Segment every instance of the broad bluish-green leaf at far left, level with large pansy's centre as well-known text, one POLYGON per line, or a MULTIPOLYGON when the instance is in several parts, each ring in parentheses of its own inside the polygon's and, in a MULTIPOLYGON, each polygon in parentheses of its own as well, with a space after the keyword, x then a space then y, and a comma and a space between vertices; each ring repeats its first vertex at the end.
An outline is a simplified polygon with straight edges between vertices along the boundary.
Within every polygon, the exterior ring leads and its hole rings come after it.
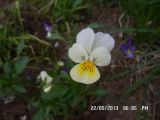
POLYGON ((27 66, 28 62, 29 62, 28 57, 26 56, 18 57, 15 63, 16 73, 18 74, 22 73, 25 67, 27 66))

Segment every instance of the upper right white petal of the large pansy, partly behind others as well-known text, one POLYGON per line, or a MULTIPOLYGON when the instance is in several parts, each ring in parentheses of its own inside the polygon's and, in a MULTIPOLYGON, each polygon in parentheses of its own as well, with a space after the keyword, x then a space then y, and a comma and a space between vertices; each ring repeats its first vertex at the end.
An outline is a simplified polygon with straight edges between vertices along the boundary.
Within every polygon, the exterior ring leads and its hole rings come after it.
POLYGON ((114 44, 115 40, 109 34, 98 32, 95 34, 92 50, 95 50, 98 47, 106 47, 110 52, 114 48, 114 44))

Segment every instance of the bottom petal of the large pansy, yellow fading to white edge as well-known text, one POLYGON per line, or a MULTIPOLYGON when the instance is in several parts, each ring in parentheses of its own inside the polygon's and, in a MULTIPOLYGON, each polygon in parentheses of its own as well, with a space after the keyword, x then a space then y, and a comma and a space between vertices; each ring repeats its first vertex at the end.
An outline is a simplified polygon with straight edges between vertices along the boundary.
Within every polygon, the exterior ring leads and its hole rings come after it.
POLYGON ((75 65, 71 71, 71 78, 79 83, 92 84, 100 78, 100 73, 96 66, 94 66, 93 71, 86 71, 83 69, 83 63, 75 65))

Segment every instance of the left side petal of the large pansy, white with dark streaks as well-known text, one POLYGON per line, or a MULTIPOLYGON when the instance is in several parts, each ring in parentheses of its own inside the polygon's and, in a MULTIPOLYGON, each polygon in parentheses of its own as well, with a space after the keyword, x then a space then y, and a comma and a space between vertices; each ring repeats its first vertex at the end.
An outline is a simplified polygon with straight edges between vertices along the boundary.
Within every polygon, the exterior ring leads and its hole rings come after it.
POLYGON ((82 47, 82 45, 75 43, 69 48, 68 56, 75 63, 80 63, 86 59, 88 59, 88 54, 86 50, 82 47))

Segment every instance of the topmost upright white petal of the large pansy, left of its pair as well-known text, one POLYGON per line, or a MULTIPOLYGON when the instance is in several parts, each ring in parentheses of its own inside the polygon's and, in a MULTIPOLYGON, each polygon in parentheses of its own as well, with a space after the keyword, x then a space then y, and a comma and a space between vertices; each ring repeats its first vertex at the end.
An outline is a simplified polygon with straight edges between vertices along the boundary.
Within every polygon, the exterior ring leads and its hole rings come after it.
POLYGON ((94 31, 91 28, 81 30, 76 38, 76 42, 81 44, 90 54, 94 42, 94 31))

